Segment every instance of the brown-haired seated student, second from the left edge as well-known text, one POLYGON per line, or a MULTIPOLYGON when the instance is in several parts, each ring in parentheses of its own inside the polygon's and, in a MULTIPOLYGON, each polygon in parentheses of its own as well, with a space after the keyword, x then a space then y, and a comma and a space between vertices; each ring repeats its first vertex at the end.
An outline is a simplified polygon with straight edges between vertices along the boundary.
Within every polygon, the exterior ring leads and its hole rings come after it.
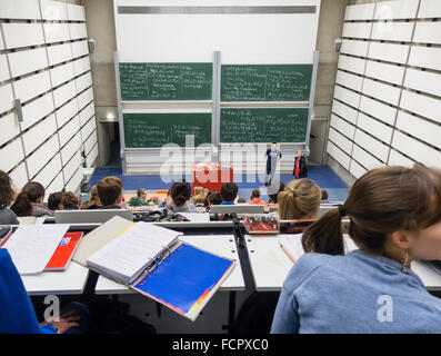
POLYGON ((21 192, 17 196, 16 201, 11 206, 11 210, 13 210, 17 216, 53 217, 53 210, 43 206, 44 192, 44 187, 39 182, 27 182, 21 189, 21 192))

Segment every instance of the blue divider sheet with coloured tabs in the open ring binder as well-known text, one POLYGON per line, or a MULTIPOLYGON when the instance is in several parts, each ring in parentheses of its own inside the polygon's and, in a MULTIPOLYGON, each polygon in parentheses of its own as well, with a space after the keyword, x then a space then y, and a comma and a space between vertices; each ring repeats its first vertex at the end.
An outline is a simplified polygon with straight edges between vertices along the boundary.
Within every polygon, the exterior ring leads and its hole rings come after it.
POLYGON ((132 287, 194 319, 233 265, 231 259, 181 244, 132 287))

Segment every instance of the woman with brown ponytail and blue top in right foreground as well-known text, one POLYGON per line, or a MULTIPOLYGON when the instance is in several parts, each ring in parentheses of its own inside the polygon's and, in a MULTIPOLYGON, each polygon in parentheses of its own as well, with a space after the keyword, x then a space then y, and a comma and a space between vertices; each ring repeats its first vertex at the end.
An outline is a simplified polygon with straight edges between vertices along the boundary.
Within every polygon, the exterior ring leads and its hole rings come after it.
POLYGON ((412 260, 441 259, 441 172, 385 167, 303 233, 271 333, 441 333, 441 299, 412 260), (341 219, 358 250, 344 256, 341 219))

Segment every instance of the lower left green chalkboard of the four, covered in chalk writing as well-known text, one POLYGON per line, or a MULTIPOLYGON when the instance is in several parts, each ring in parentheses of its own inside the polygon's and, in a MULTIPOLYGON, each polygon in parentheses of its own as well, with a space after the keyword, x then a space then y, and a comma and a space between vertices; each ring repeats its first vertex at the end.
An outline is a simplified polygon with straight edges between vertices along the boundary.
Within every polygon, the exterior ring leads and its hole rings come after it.
POLYGON ((194 146, 211 144, 211 113, 124 113, 127 148, 186 146, 193 135, 194 146))

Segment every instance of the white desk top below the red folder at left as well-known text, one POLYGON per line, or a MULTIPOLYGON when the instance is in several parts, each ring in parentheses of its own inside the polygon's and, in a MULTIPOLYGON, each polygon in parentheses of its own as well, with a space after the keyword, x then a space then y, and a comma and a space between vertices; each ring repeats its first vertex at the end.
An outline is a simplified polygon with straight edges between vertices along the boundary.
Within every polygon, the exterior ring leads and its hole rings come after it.
POLYGON ((31 296, 77 295, 84 290, 88 276, 89 269, 72 260, 66 270, 43 271, 38 275, 21 276, 21 279, 31 296))

